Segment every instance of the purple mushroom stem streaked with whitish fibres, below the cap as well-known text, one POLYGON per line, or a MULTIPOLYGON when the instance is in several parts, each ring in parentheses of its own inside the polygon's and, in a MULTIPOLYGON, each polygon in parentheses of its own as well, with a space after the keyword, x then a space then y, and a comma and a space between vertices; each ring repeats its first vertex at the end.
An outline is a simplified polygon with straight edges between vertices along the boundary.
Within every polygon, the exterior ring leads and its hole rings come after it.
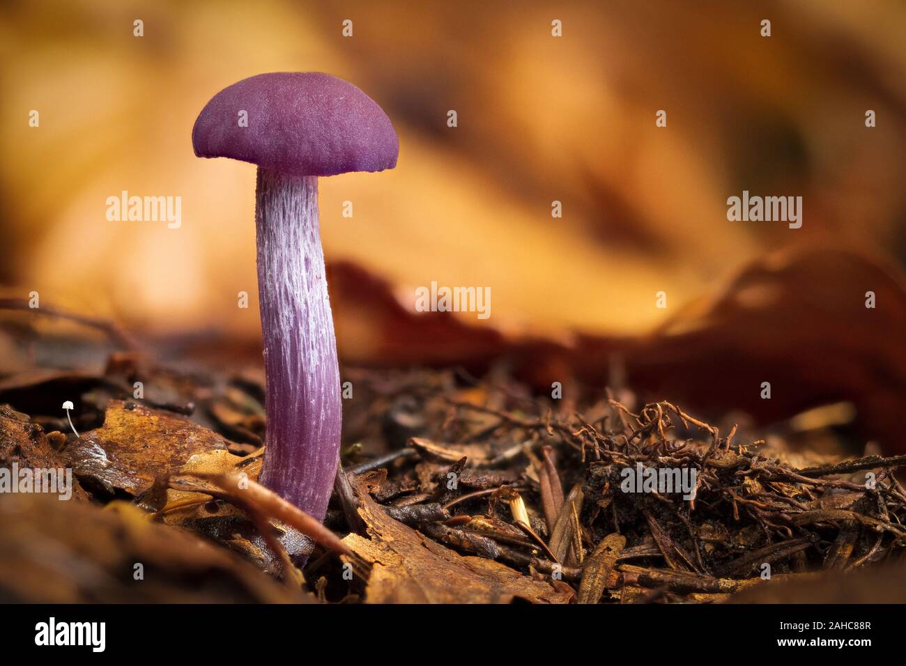
POLYGON ((259 167, 255 228, 267 384, 260 481, 323 521, 339 459, 342 406, 318 179, 259 167))

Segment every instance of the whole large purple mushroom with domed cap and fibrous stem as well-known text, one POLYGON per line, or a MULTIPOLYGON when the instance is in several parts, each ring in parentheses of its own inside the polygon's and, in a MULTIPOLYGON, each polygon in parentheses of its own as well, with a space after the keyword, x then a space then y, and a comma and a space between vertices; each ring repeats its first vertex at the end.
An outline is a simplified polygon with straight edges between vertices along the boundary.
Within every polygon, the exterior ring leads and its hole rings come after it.
POLYGON ((319 521, 340 449, 342 407, 318 230, 318 177, 396 166, 387 114, 352 83, 258 74, 218 92, 192 130, 198 157, 258 166, 258 295, 267 434, 261 482, 319 521))

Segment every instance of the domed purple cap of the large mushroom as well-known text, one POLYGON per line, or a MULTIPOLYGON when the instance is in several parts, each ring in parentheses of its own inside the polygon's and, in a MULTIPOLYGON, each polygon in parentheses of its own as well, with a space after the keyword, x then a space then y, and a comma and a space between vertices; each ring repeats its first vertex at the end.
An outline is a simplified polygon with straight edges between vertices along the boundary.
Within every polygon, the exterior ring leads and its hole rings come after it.
POLYGON ((198 157, 232 158, 294 176, 396 166, 387 114, 352 83, 321 72, 257 74, 207 102, 192 129, 198 157), (239 124, 246 111, 248 126, 239 124))

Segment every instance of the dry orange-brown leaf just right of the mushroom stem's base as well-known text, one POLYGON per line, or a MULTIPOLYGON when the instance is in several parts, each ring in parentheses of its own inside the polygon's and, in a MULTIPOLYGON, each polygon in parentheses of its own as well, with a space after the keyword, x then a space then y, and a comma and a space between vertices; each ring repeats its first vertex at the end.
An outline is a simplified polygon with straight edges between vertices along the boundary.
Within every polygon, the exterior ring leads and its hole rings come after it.
POLYGON ((371 539, 343 541, 371 563, 367 603, 566 603, 563 589, 483 557, 458 555, 387 516, 360 486, 359 512, 371 539))

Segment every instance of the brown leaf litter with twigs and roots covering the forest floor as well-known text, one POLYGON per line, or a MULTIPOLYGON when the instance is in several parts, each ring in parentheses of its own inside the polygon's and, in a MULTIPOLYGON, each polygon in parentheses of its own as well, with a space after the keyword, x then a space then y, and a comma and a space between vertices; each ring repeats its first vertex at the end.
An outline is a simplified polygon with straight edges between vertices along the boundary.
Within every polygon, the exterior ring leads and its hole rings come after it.
MULTIPOLYGON (((234 601, 713 603, 902 559, 906 493, 895 470, 906 457, 803 464, 776 441, 721 435, 668 401, 636 408, 585 391, 566 405, 505 370, 483 381, 344 375, 356 399, 344 405, 343 471, 323 527, 256 484, 263 389, 247 376, 181 375, 119 355, 105 373, 79 375, 81 438, 16 410, 37 402, 30 387, 63 391, 54 382, 72 387, 71 376, 6 378, 17 402, 0 408, 0 466, 71 465, 80 501, 0 497, 14 526, 3 538, 53 524, 60 552, 80 562, 66 569, 72 601, 88 600, 86 584, 101 574, 112 576, 101 600, 131 594, 115 563, 149 544, 124 523, 178 535, 181 545, 154 545, 171 558, 161 566, 200 571, 211 552, 223 555, 224 575, 242 581, 227 594, 234 601), (158 372, 172 390, 153 404, 130 399, 125 380, 153 385, 158 372), (640 464, 694 469, 694 498, 623 492, 623 470, 640 464), (84 525, 97 547, 73 550, 84 525)), ((42 556, 16 543, 0 565, 5 595, 28 594, 10 567, 46 574, 42 556)), ((173 585, 161 599, 192 597, 173 585)))

